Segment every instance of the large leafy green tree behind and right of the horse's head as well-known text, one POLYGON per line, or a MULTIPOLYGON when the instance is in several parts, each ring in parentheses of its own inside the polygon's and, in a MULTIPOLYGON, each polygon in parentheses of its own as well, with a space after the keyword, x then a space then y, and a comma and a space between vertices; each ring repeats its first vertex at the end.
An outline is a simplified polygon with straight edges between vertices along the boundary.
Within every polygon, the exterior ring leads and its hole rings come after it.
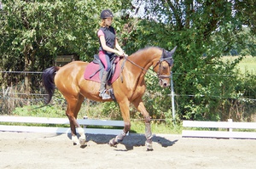
POLYGON ((224 63, 221 57, 235 47, 253 51, 255 41, 248 42, 250 35, 244 33, 245 25, 253 31, 254 18, 247 17, 245 12, 254 12, 253 1, 138 0, 137 4, 142 2, 144 15, 137 19, 137 29, 127 37, 134 38, 133 44, 142 44, 147 39, 149 45, 162 48, 177 45, 173 68, 176 93, 194 95, 177 98, 180 118, 230 118, 224 115, 221 105, 242 93, 236 91, 239 82, 237 72, 234 73, 242 57, 234 63, 224 63))

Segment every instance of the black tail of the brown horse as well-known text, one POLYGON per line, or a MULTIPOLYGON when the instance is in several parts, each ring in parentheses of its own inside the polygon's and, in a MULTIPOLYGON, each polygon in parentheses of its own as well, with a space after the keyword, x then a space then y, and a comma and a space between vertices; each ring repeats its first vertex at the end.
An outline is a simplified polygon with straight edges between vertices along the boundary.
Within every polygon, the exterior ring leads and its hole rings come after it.
POLYGON ((43 72, 43 83, 46 92, 48 93, 48 98, 45 100, 45 104, 49 104, 54 92, 55 92, 55 72, 59 70, 60 67, 52 66, 44 70, 43 72))

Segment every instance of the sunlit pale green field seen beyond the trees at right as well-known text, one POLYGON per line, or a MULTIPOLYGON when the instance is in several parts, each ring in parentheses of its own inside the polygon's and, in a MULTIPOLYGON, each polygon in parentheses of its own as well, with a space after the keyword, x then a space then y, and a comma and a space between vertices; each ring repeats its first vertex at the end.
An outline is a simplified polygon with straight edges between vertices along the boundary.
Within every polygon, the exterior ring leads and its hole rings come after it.
MULTIPOLYGON (((230 61, 237 59, 239 56, 224 56, 224 61, 230 61)), ((241 62, 237 65, 237 68, 241 70, 242 74, 247 72, 252 73, 253 75, 256 74, 256 57, 253 56, 245 56, 241 62)))

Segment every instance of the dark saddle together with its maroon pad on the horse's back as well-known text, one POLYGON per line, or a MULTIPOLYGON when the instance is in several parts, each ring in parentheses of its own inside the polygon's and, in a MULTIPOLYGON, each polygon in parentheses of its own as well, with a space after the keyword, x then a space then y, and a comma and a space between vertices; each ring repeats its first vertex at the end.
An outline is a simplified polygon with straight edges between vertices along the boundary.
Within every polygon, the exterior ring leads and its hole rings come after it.
MULTIPOLYGON (((111 69, 108 70, 108 86, 110 86, 114 81, 116 81, 120 75, 120 64, 119 57, 113 56, 110 59, 111 69)), ((102 64, 99 55, 95 54, 94 59, 90 62, 89 65, 86 66, 84 70, 84 79, 90 80, 94 82, 101 82, 102 74, 104 71, 104 65, 102 64)))

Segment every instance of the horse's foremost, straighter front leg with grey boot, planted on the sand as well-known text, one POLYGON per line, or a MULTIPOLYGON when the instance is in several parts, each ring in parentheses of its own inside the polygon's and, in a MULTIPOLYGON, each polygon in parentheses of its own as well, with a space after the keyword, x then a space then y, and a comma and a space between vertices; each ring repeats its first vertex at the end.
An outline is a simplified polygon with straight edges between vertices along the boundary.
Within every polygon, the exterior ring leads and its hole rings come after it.
POLYGON ((135 100, 132 104, 134 104, 137 107, 137 110, 140 111, 145 118, 145 137, 146 137, 146 146, 148 151, 153 150, 152 146, 152 132, 151 132, 151 125, 150 125, 150 115, 148 114, 148 111, 145 108, 145 105, 143 104, 142 99, 135 100))

